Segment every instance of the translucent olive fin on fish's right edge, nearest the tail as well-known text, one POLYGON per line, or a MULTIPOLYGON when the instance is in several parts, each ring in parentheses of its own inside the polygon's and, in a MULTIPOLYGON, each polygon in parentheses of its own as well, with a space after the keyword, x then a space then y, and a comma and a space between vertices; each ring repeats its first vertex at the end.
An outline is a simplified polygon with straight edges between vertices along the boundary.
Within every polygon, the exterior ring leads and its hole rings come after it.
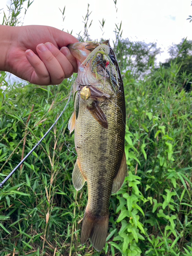
POLYGON ((116 193, 121 188, 124 182, 125 174, 126 174, 126 157, 124 153, 118 173, 113 180, 112 193, 116 193))

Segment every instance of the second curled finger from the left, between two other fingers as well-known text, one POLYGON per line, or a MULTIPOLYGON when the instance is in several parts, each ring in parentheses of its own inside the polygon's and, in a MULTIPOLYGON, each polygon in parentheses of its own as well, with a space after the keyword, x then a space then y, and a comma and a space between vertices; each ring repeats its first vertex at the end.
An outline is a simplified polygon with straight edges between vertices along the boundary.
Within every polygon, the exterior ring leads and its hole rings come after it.
MULTIPOLYGON (((48 49, 44 44, 39 44, 36 47, 36 50, 39 57, 41 58, 42 62, 44 62, 49 72, 49 75, 51 78, 51 84, 61 83, 62 80, 65 78, 65 73, 63 71, 65 69, 63 69, 61 67, 61 64, 59 63, 63 61, 63 59, 61 60, 60 51, 53 45, 50 47, 50 49, 48 49), (53 51, 53 54, 51 51, 53 51)), ((65 60, 62 62, 62 65, 65 65, 65 60)), ((71 73, 72 73, 72 70, 73 70, 73 67, 71 67, 71 73)))

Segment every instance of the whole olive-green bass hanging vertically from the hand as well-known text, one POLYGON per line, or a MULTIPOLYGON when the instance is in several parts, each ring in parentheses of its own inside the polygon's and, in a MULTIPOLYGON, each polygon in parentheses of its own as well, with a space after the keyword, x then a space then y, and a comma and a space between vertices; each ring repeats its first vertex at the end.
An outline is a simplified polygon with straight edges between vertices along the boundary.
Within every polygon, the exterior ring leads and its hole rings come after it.
POLYGON ((72 181, 76 190, 86 181, 88 185, 80 240, 83 245, 90 238, 101 251, 108 233, 110 196, 126 174, 123 80, 109 40, 76 42, 68 48, 78 65, 68 125, 70 133, 74 130, 77 152, 72 181))

